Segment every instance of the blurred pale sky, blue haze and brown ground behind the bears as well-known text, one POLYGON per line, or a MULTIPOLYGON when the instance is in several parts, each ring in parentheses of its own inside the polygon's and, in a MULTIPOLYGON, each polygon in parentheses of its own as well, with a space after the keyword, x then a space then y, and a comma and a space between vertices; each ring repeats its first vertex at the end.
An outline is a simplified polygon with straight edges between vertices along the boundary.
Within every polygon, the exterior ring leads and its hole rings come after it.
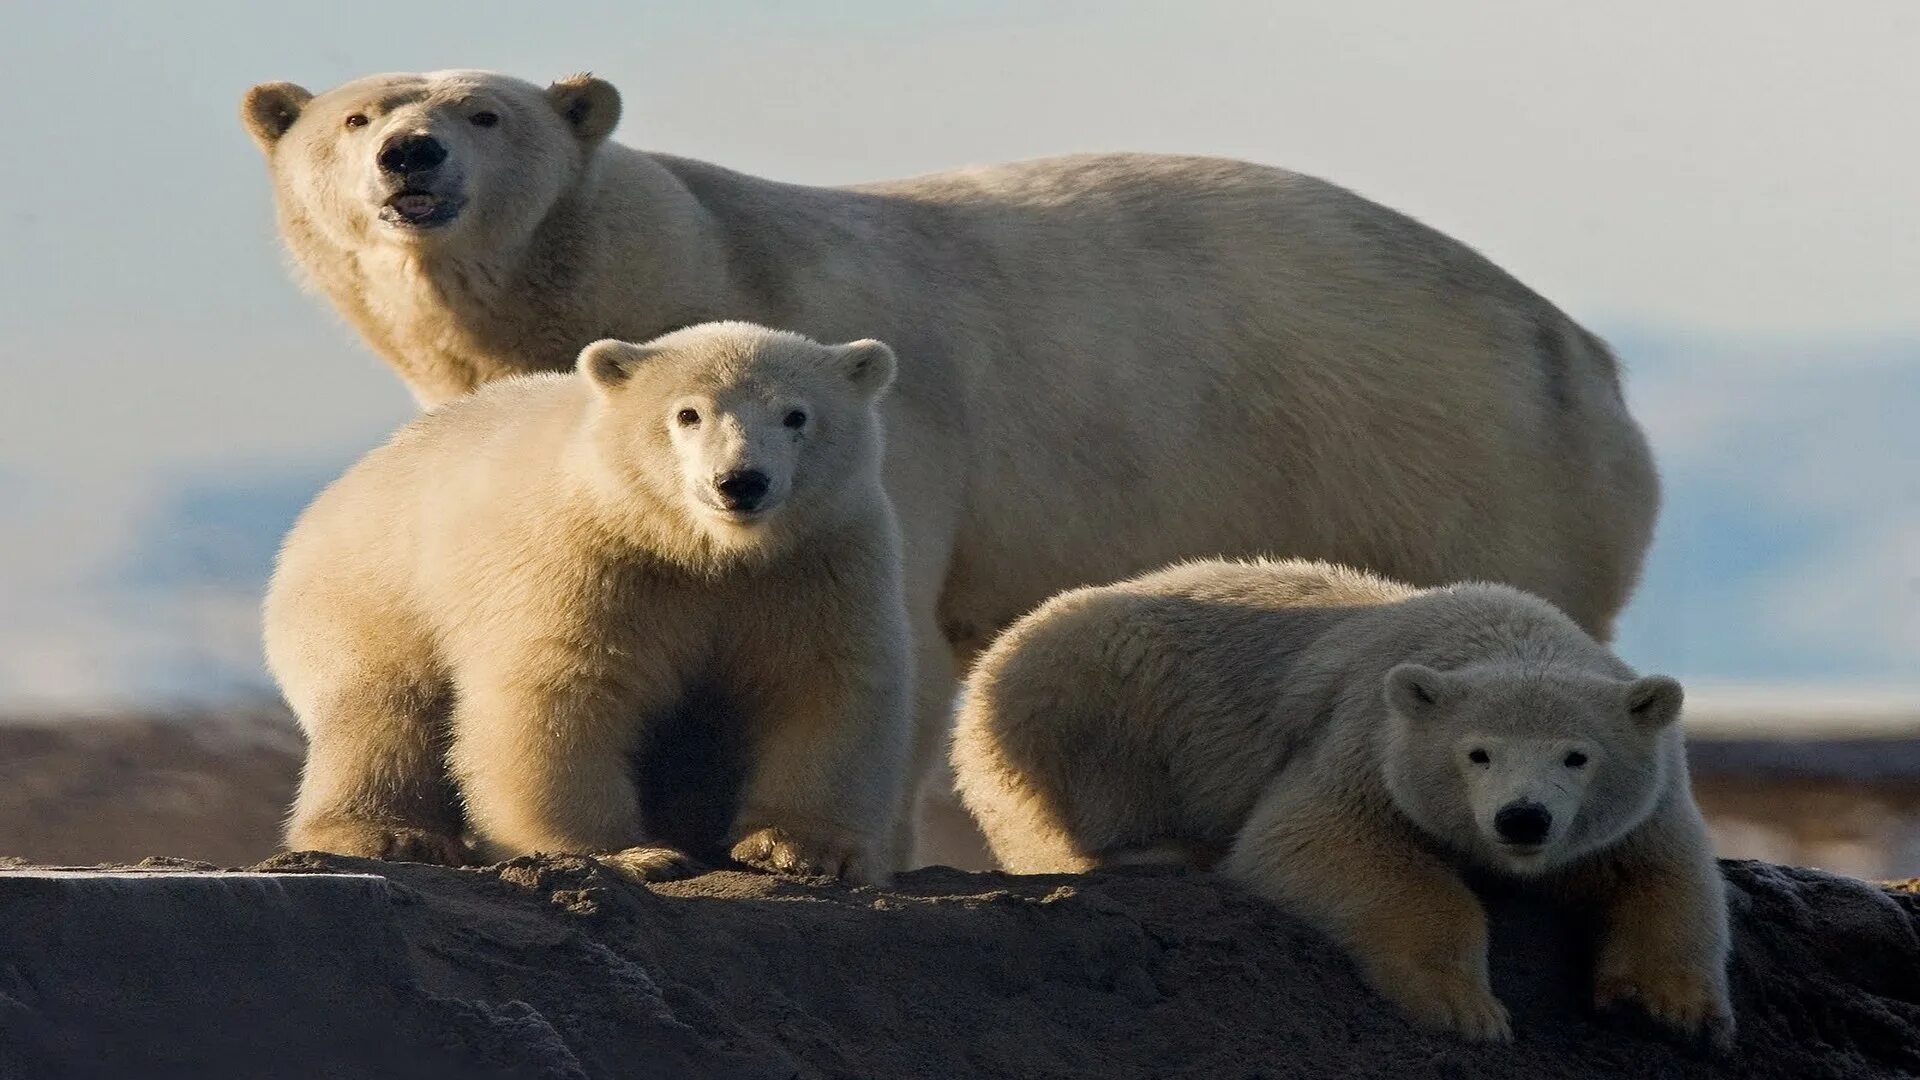
POLYGON ((0 855, 273 849, 273 552, 413 407, 286 273, 238 100, 492 67, 785 181, 1223 154, 1473 244, 1628 367, 1619 644, 1688 682, 1722 851, 1920 874, 1914 56, 1910 0, 4 6, 0 855))

